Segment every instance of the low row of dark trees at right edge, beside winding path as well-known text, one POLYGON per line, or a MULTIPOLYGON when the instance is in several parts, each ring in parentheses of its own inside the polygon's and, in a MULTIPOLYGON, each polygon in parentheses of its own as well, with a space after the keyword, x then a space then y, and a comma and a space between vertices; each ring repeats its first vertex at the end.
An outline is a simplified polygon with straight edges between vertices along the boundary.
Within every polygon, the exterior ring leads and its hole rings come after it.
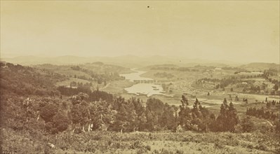
POLYGON ((274 111, 265 110, 263 107, 260 109, 248 108, 246 111, 246 115, 248 116, 255 116, 257 118, 264 118, 267 120, 276 120, 279 119, 279 113, 274 113, 274 111))

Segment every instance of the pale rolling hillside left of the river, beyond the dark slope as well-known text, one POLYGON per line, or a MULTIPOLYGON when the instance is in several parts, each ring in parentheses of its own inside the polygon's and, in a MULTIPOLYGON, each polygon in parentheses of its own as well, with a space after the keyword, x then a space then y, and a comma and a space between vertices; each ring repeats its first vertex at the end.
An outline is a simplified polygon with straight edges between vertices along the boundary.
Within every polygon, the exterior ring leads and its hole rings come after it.
MULTIPOLYGON (((119 73, 131 72, 128 68, 103 64, 102 62, 77 65, 38 64, 34 65, 34 68, 41 71, 51 71, 58 73, 61 76, 65 76, 67 79, 63 81, 64 83, 76 83, 81 81, 82 83, 91 83, 91 87, 94 88, 100 84, 107 85, 110 81, 124 80, 124 77, 119 76, 119 73)), ((65 84, 62 85, 69 86, 65 84)))

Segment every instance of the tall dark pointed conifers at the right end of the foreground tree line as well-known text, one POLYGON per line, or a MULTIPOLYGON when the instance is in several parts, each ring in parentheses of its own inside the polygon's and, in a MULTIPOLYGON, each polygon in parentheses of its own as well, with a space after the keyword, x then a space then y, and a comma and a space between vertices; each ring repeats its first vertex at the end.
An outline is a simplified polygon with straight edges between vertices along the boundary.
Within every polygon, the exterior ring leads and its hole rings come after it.
POLYGON ((188 101, 184 96, 182 96, 181 102, 178 118, 180 126, 185 130, 234 132, 234 127, 239 122, 234 105, 232 102, 228 105, 226 99, 220 107, 220 114, 217 118, 208 109, 202 107, 198 99, 194 102, 192 109, 187 107, 188 101))

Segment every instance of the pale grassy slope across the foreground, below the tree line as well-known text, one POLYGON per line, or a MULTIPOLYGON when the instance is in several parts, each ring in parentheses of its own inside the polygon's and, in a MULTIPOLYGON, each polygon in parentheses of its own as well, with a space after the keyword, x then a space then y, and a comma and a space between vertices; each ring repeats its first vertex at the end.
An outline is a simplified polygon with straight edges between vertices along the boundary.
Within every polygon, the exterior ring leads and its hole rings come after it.
POLYGON ((49 140, 55 153, 276 153, 275 136, 258 132, 232 134, 160 132, 86 132, 59 134, 49 140), (64 150, 62 150, 64 148, 64 150))

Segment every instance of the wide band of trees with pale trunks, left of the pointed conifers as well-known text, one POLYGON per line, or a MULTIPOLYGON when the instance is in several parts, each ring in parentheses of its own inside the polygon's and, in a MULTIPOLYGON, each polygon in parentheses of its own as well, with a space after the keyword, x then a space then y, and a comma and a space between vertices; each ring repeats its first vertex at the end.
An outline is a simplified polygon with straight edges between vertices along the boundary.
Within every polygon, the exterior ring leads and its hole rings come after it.
POLYGON ((146 107, 140 99, 125 100, 117 97, 113 102, 88 102, 88 95, 72 97, 70 118, 73 130, 112 130, 116 132, 173 130, 174 106, 159 99, 148 99, 146 107))

